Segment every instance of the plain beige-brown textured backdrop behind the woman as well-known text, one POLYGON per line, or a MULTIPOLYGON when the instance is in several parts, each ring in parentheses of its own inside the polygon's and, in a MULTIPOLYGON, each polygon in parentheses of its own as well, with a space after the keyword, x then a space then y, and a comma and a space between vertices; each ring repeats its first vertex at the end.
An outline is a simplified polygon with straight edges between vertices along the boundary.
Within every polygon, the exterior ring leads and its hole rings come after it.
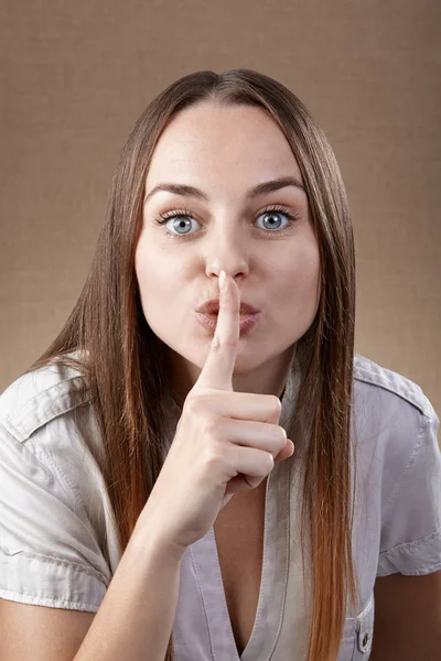
POLYGON ((0 390, 86 278, 117 156, 144 106, 198 69, 297 94, 336 153, 357 257, 356 351, 441 413, 441 3, 2 2, 0 390))

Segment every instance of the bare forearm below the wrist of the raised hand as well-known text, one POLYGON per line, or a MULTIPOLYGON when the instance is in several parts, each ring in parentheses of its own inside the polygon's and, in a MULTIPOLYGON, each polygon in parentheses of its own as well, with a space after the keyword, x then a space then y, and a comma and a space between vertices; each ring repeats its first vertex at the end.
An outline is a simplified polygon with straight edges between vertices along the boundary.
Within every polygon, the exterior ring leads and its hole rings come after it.
POLYGON ((136 529, 74 661, 163 661, 182 555, 136 529))

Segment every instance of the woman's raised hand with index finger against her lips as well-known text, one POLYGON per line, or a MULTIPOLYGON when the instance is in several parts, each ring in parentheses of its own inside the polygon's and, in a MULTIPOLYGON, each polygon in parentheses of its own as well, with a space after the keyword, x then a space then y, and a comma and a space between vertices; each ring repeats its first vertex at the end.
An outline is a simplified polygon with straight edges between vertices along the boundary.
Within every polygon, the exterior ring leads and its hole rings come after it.
POLYGON ((233 390, 239 311, 239 291, 227 277, 214 342, 143 511, 155 534, 182 553, 208 532, 235 492, 256 488, 293 452, 278 425, 280 399, 233 390))

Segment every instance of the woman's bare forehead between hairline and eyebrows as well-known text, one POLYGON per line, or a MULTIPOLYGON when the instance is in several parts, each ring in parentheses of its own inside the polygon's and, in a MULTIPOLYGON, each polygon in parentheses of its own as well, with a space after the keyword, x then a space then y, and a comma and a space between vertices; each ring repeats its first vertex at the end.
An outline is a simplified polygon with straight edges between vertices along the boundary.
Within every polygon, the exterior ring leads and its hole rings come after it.
POLYGON ((203 104, 172 118, 153 151, 146 188, 160 181, 195 184, 228 177, 256 183, 291 174, 302 181, 292 150, 262 108, 203 104))

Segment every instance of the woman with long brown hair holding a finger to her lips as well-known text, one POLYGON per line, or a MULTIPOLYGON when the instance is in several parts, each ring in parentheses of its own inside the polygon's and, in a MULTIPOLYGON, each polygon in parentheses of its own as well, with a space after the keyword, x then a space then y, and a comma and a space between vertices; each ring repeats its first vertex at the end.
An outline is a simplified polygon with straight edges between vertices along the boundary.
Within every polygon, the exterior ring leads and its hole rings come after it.
POLYGON ((354 355, 354 322, 311 113, 248 69, 172 84, 121 152, 65 327, 1 398, 3 646, 33 622, 33 650, 57 626, 77 661, 367 659, 375 586, 372 659, 438 651, 434 618, 397 639, 408 583, 381 577, 424 574, 411 604, 437 610, 439 419, 354 355))

